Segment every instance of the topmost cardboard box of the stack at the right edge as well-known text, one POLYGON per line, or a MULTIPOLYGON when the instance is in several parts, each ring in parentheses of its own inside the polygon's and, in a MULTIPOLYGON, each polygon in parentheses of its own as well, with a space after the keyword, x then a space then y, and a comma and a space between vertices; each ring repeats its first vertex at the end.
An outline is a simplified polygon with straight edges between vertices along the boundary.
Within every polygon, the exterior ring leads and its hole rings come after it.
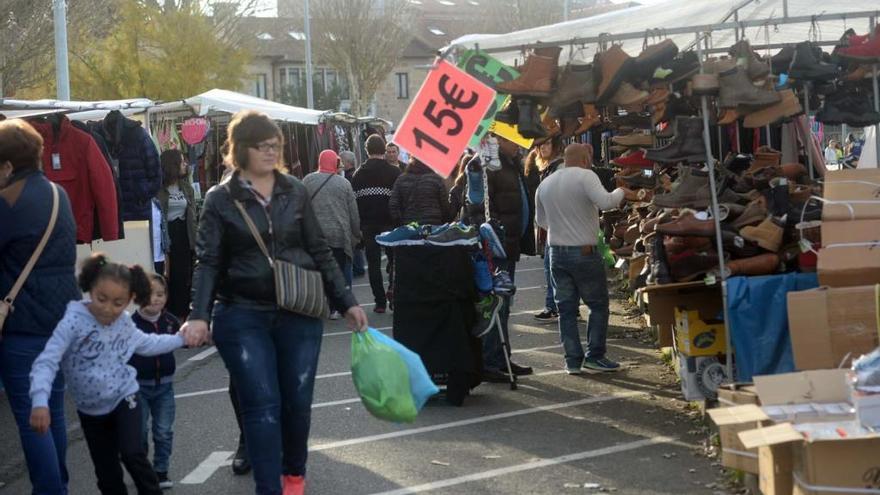
POLYGON ((862 201, 862 203, 850 203, 852 211, 844 204, 824 203, 822 221, 880 219, 878 192, 880 192, 880 169, 863 168, 827 172, 823 193, 826 200, 844 203, 862 201))

